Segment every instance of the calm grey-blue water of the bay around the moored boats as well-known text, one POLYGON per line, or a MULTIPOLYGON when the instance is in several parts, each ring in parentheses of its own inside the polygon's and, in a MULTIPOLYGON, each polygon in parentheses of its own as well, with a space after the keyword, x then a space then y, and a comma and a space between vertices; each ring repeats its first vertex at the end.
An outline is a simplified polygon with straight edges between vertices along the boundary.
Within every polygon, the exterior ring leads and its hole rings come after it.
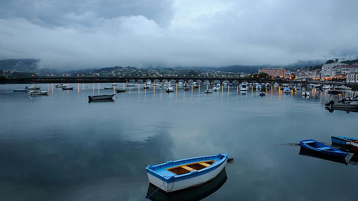
POLYGON ((37 97, 12 92, 24 84, 0 85, 1 200, 143 200, 148 164, 216 153, 235 163, 205 200, 356 199, 356 164, 298 154, 299 140, 358 137, 357 113, 324 110, 341 96, 133 87, 88 103, 111 84, 69 85, 39 84, 50 93, 37 97))

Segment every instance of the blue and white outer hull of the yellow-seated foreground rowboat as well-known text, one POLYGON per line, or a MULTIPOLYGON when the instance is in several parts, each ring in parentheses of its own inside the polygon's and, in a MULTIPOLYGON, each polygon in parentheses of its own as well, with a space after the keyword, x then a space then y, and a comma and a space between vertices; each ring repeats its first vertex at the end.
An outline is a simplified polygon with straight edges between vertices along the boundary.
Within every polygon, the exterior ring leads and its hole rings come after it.
MULTIPOLYGON (((176 175, 172 177, 162 176, 160 174, 156 174, 154 171, 151 171, 151 169, 154 166, 148 166, 147 169, 147 175, 149 182, 153 184, 156 187, 160 187, 161 190, 164 192, 174 192, 177 190, 183 190, 195 186, 202 185, 212 179, 214 179, 224 168, 226 165, 227 160, 227 154, 220 155, 224 156, 222 159, 216 161, 211 166, 206 167, 204 169, 201 169, 199 171, 191 171, 186 174, 176 175), (166 181, 166 182, 164 182, 166 181), (164 183, 164 184, 163 184, 164 183)), ((214 157, 214 156, 211 156, 214 157)), ((198 157, 199 158, 199 157, 198 157)), ((201 157, 203 158, 203 157, 201 157)), ((194 159, 194 158, 193 158, 194 159)), ((185 161, 192 161, 193 159, 184 159, 185 161)), ((194 159, 195 160, 195 159, 194 159)), ((181 160, 183 161, 183 160, 181 160)), ((176 163, 177 161, 168 161, 167 166, 170 167, 171 164, 176 163)), ((163 165, 163 164, 162 164, 163 165)), ((173 166, 175 167, 175 166, 173 166)), ((165 170, 167 171, 167 170, 165 170)), ((169 171, 165 173, 170 173, 169 171)))

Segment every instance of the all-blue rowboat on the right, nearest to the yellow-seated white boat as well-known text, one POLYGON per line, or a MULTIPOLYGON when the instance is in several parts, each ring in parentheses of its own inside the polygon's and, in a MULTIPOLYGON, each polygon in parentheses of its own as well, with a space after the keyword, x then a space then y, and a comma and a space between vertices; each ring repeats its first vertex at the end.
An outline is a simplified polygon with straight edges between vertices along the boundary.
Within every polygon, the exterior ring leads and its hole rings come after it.
POLYGON ((333 147, 327 146, 325 144, 322 144, 320 142, 317 142, 315 140, 301 140, 300 146, 302 148, 321 153, 328 156, 336 156, 336 157, 342 157, 345 158, 348 156, 348 153, 344 151, 340 151, 338 149, 335 149, 333 147))

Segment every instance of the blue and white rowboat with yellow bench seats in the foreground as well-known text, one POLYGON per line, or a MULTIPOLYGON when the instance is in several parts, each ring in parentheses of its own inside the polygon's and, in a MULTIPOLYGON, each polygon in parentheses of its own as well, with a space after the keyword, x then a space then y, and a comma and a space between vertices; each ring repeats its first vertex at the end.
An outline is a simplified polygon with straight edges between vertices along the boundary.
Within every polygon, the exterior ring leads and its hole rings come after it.
POLYGON ((148 165, 149 182, 164 192, 204 184, 214 179, 226 165, 229 154, 217 154, 148 165))

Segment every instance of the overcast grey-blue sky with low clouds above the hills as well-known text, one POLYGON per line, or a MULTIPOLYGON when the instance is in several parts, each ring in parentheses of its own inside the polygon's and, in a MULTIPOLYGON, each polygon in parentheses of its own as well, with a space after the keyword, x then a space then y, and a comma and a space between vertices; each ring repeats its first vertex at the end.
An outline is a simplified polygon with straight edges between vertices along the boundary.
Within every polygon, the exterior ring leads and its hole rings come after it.
POLYGON ((280 65, 357 56, 355 0, 0 4, 0 59, 36 58, 45 67, 280 65))

